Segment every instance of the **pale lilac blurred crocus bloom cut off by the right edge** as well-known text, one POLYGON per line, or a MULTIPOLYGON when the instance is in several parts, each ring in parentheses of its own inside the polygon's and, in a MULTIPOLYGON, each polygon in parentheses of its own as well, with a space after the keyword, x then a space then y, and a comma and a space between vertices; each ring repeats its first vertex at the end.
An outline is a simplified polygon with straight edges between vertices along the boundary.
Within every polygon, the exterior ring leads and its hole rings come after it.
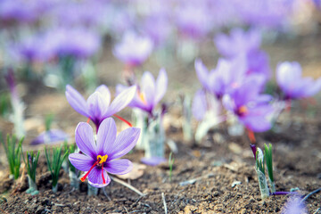
POLYGON ((298 62, 282 62, 276 68, 276 81, 284 93, 284 99, 301 99, 316 95, 321 89, 321 78, 302 78, 298 62))

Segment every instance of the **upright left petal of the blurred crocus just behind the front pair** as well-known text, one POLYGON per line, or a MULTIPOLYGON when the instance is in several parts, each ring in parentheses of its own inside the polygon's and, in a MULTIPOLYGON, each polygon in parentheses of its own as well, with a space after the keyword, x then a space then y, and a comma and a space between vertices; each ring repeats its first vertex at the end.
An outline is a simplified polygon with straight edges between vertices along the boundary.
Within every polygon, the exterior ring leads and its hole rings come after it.
POLYGON ((144 100, 147 105, 152 109, 155 99, 155 79, 152 77, 152 73, 145 71, 141 79, 141 90, 144 94, 144 100))

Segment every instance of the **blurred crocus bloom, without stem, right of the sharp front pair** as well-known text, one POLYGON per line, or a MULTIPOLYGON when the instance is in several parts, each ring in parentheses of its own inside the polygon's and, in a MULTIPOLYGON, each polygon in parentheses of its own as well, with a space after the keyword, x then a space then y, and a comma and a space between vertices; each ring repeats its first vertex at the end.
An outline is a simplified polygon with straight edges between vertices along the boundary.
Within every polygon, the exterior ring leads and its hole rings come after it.
MULTIPOLYGON (((137 93, 128 106, 132 108, 139 108, 152 114, 152 110, 165 95, 167 86, 168 76, 166 70, 160 70, 160 74, 156 81, 155 78, 152 77, 151 72, 145 71, 143 77, 141 78, 141 85, 137 86, 137 93)), ((127 90, 127 88, 128 86, 116 86, 117 94, 123 93, 123 91, 127 90)))

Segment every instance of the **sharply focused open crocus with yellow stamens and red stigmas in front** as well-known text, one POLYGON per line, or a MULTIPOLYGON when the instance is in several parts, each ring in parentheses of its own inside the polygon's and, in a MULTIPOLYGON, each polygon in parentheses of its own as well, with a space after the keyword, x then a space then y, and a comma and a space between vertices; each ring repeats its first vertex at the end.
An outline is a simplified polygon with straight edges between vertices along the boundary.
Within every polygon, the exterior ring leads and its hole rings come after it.
POLYGON ((116 124, 111 118, 103 120, 96 142, 93 128, 86 122, 78 123, 76 144, 82 153, 71 153, 69 160, 76 169, 86 171, 81 181, 88 177, 90 185, 101 188, 111 182, 107 172, 124 175, 131 171, 132 162, 119 158, 134 148, 140 129, 127 128, 116 135, 116 124))

